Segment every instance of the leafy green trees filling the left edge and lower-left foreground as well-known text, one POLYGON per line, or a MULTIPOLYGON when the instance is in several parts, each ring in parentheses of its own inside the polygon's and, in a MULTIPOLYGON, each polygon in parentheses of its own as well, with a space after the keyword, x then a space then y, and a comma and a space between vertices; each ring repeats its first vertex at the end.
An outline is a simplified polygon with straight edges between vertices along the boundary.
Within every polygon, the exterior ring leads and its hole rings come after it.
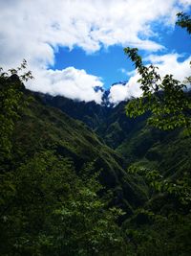
POLYGON ((27 103, 22 81, 32 79, 19 75, 25 68, 24 60, 0 75, 0 255, 126 255, 122 211, 98 196, 93 165, 77 175, 71 160, 44 148, 13 157, 12 134, 27 103))

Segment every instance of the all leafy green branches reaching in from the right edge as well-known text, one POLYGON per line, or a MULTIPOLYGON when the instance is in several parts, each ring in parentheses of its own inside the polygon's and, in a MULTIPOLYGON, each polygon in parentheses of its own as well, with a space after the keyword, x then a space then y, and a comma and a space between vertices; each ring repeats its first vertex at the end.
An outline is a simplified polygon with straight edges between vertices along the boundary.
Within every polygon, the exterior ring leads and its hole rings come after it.
MULTIPOLYGON (((181 27, 187 27, 191 24, 191 19, 186 14, 178 13, 177 24, 181 27), (183 22, 183 23, 182 23, 183 22)), ((189 31, 188 31, 189 32, 189 31)), ((131 101, 126 106, 127 115, 138 116, 146 111, 151 112, 151 117, 148 119, 149 124, 160 129, 174 129, 174 128, 187 128, 188 132, 191 132, 191 117, 189 111, 191 109, 190 97, 185 94, 183 88, 185 85, 180 81, 173 79, 172 75, 166 75, 163 79, 160 78, 156 71, 158 67, 153 65, 144 66, 142 59, 138 56, 138 49, 125 48, 125 53, 135 62, 136 68, 140 79, 140 88, 142 89, 142 96, 138 99, 131 101)), ((134 170, 135 171, 135 170, 134 170)), ((163 183, 158 181, 159 178, 163 179, 161 175, 156 171, 149 172, 144 168, 140 168, 141 174, 145 175, 152 186, 157 190, 165 189, 167 192, 175 194, 181 194, 180 191, 185 190, 184 196, 181 200, 184 202, 190 197, 190 193, 187 192, 189 185, 182 181, 183 189, 177 184, 170 184, 166 180, 162 180, 163 183), (188 194, 188 195, 187 195, 188 194)), ((189 190, 190 191, 190 190, 189 190)))

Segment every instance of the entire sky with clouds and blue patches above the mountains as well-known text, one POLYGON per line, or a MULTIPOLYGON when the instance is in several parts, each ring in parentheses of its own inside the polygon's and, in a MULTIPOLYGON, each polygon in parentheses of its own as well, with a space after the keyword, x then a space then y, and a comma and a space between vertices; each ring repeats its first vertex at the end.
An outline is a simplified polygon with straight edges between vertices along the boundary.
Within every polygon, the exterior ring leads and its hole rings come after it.
POLYGON ((0 10, 0 66, 27 59, 31 90, 98 104, 96 86, 110 88, 113 104, 138 97, 127 46, 161 76, 190 76, 191 38, 175 22, 191 0, 0 0, 0 10))

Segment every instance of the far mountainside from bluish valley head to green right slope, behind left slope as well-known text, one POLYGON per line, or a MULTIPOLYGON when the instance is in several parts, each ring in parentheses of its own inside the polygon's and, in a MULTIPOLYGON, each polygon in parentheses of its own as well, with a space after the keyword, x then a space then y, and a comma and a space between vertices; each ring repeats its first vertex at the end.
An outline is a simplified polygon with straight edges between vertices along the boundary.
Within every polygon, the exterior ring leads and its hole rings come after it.
POLYGON ((182 162, 187 168, 191 166, 190 138, 183 136, 181 130, 162 131, 149 127, 146 124, 149 114, 128 118, 126 102, 113 107, 75 102, 61 96, 41 94, 39 97, 46 105, 59 108, 92 128, 107 146, 125 158, 126 163, 141 162, 171 175, 173 170, 176 173, 181 169, 182 162))

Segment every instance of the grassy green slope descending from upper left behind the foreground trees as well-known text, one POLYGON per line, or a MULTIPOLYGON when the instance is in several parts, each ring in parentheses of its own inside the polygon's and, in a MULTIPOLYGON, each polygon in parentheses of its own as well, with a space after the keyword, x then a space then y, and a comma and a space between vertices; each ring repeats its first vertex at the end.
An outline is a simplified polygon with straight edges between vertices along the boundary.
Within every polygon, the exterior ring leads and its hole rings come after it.
MULTIPOLYGON (((28 94, 32 93, 28 91, 28 94)), ((17 122, 13 145, 14 162, 27 161, 36 151, 44 149, 70 157, 77 172, 85 164, 94 162, 102 184, 113 193, 111 203, 129 213, 146 199, 144 184, 123 171, 126 163, 116 151, 102 143, 84 123, 43 104, 39 97, 34 96, 17 122)))

